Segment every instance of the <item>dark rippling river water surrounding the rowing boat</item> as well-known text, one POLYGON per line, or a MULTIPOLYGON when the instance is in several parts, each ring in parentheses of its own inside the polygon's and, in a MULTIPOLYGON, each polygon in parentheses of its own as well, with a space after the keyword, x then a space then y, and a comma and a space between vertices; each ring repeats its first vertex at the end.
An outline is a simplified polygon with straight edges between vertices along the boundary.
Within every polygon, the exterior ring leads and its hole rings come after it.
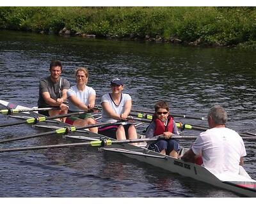
MULTIPOLYGON (((255 133, 256 51, 235 48, 180 47, 172 44, 65 38, 0 31, 0 99, 37 105, 38 82, 49 75, 52 59, 63 62, 63 77, 74 85, 74 69, 86 66, 97 104, 109 81, 122 77, 136 109, 153 110, 164 99, 171 112, 206 116, 219 104, 231 119, 227 126, 255 133)), ((205 120, 176 122, 207 126, 205 120)), ((0 123, 17 121, 0 115, 0 123)), ((141 133, 147 126, 138 128, 141 133)), ((39 132, 29 126, 0 129, 0 138, 39 132)), ((184 131, 198 135, 199 131, 184 131)), ((189 147, 190 141, 180 141, 189 147)), ((45 136, 6 143, 1 148, 65 143, 45 136)), ((255 141, 244 141, 244 168, 256 179, 255 141)), ((0 197, 237 197, 124 156, 92 147, 0 154, 0 197)))

